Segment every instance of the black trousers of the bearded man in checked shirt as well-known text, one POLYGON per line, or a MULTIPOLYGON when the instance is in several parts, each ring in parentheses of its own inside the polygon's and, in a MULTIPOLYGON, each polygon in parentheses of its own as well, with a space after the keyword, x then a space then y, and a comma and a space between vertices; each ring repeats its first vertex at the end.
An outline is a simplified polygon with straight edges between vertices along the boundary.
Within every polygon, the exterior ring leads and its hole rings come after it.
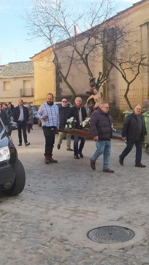
POLYGON ((44 137, 46 140, 46 145, 45 145, 45 154, 52 155, 54 143, 55 143, 55 134, 56 134, 56 128, 51 130, 50 127, 43 126, 43 131, 44 131, 44 137))

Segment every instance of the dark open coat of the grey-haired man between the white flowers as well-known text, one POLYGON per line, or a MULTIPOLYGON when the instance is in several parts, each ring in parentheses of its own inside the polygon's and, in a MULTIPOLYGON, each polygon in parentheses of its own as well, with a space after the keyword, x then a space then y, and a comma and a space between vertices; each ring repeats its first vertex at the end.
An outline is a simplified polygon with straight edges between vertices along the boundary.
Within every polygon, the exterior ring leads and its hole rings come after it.
MULTIPOLYGON (((87 113, 86 113, 86 109, 81 106, 81 112, 82 112, 82 117, 83 117, 83 121, 86 119, 87 117, 87 113)), ((74 117, 76 122, 75 128, 76 129, 82 129, 82 126, 80 125, 80 121, 79 121, 79 110, 76 106, 73 106, 72 108, 70 108, 69 112, 68 112, 68 116, 67 119, 70 119, 71 117, 74 117)))

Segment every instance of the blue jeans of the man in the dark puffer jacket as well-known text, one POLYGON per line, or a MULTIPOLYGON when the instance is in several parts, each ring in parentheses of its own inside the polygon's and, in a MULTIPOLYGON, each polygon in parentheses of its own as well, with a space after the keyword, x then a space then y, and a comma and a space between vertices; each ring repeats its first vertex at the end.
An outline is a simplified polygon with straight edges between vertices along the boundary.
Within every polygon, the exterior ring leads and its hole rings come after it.
POLYGON ((111 141, 106 141, 106 140, 96 141, 96 151, 93 154, 91 161, 96 162, 97 158, 103 154, 103 170, 108 169, 110 153, 111 153, 111 141))

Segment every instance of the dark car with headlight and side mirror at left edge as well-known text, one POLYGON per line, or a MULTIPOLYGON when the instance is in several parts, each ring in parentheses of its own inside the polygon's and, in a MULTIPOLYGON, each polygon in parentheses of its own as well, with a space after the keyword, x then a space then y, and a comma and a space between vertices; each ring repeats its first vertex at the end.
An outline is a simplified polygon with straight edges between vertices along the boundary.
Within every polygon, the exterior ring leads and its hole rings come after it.
POLYGON ((7 130, 0 118, 0 192, 6 196, 21 193, 26 180, 24 167, 10 137, 17 129, 17 123, 10 122, 7 130))

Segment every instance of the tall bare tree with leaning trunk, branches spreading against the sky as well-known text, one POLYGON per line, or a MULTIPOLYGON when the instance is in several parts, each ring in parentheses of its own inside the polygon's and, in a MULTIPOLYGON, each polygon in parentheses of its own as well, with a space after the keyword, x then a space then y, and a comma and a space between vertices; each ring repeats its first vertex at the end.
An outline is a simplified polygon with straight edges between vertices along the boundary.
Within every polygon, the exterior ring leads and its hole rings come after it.
MULTIPOLYGON (((69 82, 70 69, 77 67, 81 71, 80 66, 83 65, 84 74, 90 78, 94 77, 91 66, 96 67, 99 61, 98 48, 102 45, 99 35, 106 27, 96 25, 106 24, 105 21, 112 16, 117 8, 113 2, 113 0, 88 1, 88 7, 80 12, 66 0, 35 0, 32 9, 26 10, 24 18, 27 21, 30 40, 42 38, 46 46, 51 46, 54 53, 52 62, 72 92, 71 102, 74 101, 75 91, 69 82), (74 24, 80 32, 77 36, 74 36, 73 32, 74 24), (66 51, 68 46, 69 52, 66 51), (65 71, 59 67, 60 57, 65 58, 65 71)), ((100 56, 102 61, 102 54, 100 56)), ((96 82, 97 90, 101 83, 99 75, 96 82)))

